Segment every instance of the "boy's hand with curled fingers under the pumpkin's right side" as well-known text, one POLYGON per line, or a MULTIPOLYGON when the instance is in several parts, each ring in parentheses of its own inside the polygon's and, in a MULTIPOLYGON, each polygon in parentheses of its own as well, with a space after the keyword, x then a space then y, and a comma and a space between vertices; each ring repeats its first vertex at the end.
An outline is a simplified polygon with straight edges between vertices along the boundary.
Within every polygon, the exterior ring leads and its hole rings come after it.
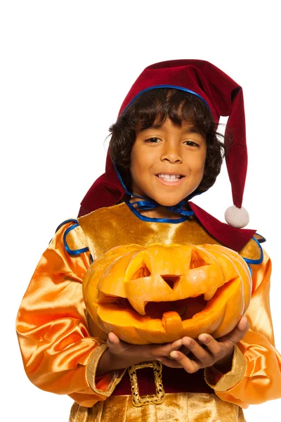
POLYGON ((190 337, 183 337, 181 341, 185 347, 185 352, 174 351, 170 354, 172 359, 159 357, 157 360, 170 368, 183 368, 189 373, 213 365, 219 371, 226 373, 230 371, 232 366, 235 344, 242 340, 248 330, 247 318, 242 316, 237 326, 227 335, 214 339, 210 334, 200 334, 198 336, 199 342, 190 337), (186 355, 190 352, 192 357, 186 355))

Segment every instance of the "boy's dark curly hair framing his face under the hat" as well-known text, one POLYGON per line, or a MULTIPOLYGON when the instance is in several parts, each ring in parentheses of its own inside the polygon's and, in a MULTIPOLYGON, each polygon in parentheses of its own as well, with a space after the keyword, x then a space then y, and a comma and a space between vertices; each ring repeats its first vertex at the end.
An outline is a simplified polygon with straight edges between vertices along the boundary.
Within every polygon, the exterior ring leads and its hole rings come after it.
POLYGON ((225 146, 218 136, 223 136, 216 132, 211 111, 204 101, 194 94, 171 88, 151 89, 141 94, 110 127, 110 158, 117 165, 126 188, 131 189, 131 151, 137 132, 155 123, 161 126, 167 118, 176 125, 191 123, 205 137, 207 156, 204 176, 192 196, 207 191, 221 171, 225 146))

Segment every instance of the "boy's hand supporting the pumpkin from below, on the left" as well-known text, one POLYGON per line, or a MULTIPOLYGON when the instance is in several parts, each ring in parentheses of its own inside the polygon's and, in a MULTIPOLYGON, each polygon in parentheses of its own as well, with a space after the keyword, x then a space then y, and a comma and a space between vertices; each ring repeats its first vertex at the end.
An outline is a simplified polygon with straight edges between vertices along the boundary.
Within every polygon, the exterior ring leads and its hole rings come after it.
POLYGON ((114 333, 109 333, 107 338, 108 349, 100 358, 96 375, 115 369, 124 369, 140 362, 153 361, 157 357, 169 357, 169 354, 173 350, 180 349, 181 345, 181 339, 173 343, 159 345, 131 345, 120 340, 114 333))

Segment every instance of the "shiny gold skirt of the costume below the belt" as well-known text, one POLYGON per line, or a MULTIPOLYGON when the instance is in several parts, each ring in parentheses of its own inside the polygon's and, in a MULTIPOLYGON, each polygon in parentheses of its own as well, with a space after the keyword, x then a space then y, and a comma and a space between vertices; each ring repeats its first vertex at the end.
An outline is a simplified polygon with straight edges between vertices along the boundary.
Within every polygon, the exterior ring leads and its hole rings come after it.
POLYGON ((243 411, 206 393, 169 393, 162 404, 133 407, 131 396, 114 396, 87 409, 74 403, 70 422, 244 422, 243 411))

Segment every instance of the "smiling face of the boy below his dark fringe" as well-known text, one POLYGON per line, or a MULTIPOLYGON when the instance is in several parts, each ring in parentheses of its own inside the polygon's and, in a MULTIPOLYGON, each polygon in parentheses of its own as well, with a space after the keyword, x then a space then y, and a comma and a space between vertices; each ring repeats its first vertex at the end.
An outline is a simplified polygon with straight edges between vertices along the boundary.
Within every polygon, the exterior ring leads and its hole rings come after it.
POLYGON ((192 124, 178 127, 166 119, 161 127, 138 132, 131 152, 132 192, 176 205, 202 181, 206 151, 204 136, 192 124))

